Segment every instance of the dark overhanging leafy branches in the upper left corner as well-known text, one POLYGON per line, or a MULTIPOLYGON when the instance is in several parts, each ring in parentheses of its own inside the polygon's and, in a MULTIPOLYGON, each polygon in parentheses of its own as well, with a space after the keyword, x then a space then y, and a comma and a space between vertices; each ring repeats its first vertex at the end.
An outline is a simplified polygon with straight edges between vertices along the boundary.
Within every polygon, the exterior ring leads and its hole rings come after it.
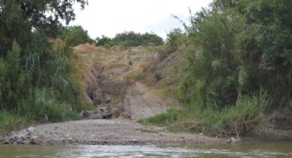
POLYGON ((0 53, 7 55, 12 42, 16 40, 26 49, 34 32, 45 32, 56 36, 60 20, 66 23, 75 19, 73 3, 84 8, 87 0, 1 0, 0 1, 0 53), (13 14, 12 14, 13 13, 13 14))

